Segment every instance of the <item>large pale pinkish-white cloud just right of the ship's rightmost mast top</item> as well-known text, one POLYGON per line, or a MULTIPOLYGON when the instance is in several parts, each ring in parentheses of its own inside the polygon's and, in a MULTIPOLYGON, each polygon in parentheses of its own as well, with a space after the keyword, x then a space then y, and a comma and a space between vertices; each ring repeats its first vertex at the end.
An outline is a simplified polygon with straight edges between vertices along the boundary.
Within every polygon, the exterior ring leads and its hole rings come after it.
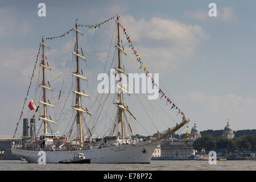
POLYGON ((137 42, 140 45, 137 47, 135 44, 139 55, 146 55, 152 68, 156 68, 158 72, 170 72, 191 60, 197 55, 199 44, 209 38, 203 28, 196 24, 157 17, 148 21, 135 20, 130 15, 122 16, 121 20, 133 44, 137 42))

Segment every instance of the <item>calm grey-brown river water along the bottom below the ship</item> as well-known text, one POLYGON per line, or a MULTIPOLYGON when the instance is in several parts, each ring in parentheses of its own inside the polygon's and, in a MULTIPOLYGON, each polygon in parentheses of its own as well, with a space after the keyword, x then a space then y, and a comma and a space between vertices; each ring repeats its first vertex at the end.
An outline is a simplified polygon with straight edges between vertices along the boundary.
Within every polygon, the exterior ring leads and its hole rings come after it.
POLYGON ((20 160, 0 160, 0 171, 256 171, 255 160, 151 160, 150 164, 34 164, 20 160))

